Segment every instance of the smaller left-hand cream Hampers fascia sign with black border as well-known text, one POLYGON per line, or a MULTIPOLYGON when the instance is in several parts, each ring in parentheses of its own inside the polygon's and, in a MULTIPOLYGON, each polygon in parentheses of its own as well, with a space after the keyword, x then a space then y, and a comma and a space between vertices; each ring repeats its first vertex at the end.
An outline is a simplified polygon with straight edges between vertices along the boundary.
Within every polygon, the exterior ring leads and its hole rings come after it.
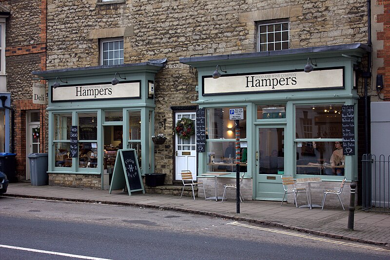
POLYGON ((139 99, 141 97, 141 81, 95 85, 61 85, 52 89, 52 101, 139 99))

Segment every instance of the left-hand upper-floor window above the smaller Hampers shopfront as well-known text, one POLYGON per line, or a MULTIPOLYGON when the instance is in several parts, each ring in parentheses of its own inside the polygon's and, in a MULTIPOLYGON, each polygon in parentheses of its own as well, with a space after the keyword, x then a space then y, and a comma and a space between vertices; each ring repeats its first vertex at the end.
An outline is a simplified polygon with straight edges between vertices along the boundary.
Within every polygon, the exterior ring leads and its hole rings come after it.
POLYGON ((123 39, 104 39, 100 41, 101 65, 123 64, 123 39))

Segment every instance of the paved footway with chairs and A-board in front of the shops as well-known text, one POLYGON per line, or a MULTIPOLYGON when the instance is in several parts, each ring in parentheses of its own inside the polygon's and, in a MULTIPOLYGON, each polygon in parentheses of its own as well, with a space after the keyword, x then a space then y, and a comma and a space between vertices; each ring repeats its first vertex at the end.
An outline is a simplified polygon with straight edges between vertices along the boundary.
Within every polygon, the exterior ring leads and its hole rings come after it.
POLYGON ((245 200, 240 204, 240 213, 236 213, 236 201, 224 202, 204 200, 202 198, 142 194, 132 192, 132 196, 121 190, 109 194, 107 190, 32 186, 27 182, 10 183, 7 193, 2 196, 79 201, 90 203, 118 204, 137 207, 174 210, 191 214, 200 214, 236 221, 282 227, 290 230, 320 235, 324 237, 352 240, 381 245, 390 248, 390 213, 362 211, 356 207, 354 229, 347 228, 349 210, 342 208, 296 208, 295 205, 280 201, 245 200))

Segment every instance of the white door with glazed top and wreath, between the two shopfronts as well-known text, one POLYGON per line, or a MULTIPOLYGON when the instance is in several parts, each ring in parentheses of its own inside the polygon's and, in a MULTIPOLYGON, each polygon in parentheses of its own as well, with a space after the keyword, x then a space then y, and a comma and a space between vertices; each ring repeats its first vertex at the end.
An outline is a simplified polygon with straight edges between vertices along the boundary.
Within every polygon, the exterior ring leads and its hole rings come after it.
MULTIPOLYGON (((193 120, 196 129, 196 112, 177 112, 175 114, 175 125, 181 118, 193 120)), ((193 135, 188 140, 182 140, 175 135, 175 179, 181 180, 181 171, 189 170, 196 180, 196 136, 193 135)))

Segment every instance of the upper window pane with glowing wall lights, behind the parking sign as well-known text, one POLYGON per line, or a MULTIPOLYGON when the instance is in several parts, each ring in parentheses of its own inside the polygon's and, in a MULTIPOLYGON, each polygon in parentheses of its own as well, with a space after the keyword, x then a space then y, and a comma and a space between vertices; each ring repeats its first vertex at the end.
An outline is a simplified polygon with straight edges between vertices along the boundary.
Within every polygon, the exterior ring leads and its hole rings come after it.
MULTIPOLYGON (((232 107, 230 107, 232 108, 232 107)), ((244 114, 246 108, 244 107, 244 114)), ((245 139, 246 133, 246 116, 245 120, 240 122, 240 138, 245 139)), ((234 120, 229 120, 229 108, 212 108, 207 109, 206 131, 208 139, 235 139, 234 120)))

